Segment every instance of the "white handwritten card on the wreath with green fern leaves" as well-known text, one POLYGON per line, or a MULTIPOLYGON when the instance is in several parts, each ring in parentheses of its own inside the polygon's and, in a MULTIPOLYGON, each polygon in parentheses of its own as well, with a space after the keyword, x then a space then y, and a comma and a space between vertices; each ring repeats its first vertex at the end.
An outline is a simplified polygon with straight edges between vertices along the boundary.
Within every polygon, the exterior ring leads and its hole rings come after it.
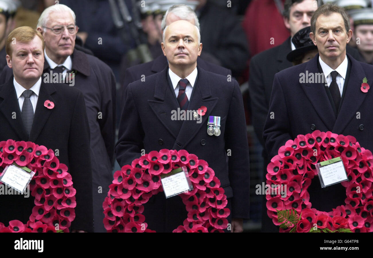
POLYGON ((348 180, 342 161, 320 167, 319 170, 325 187, 348 180))

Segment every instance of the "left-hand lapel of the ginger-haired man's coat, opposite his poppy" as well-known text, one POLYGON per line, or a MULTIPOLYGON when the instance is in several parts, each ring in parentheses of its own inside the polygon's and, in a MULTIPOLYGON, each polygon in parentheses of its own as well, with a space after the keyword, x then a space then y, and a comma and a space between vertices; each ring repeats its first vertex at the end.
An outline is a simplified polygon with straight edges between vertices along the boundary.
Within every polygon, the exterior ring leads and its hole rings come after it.
POLYGON ((19 108, 16 91, 13 85, 13 76, 6 84, 3 85, 3 88, 0 91, 0 101, 0 111, 8 120, 9 125, 20 139, 27 141, 28 135, 23 123, 21 109, 19 108), (3 100, 1 101, 1 99, 3 100), (13 116, 13 112, 15 112, 15 116, 13 116))

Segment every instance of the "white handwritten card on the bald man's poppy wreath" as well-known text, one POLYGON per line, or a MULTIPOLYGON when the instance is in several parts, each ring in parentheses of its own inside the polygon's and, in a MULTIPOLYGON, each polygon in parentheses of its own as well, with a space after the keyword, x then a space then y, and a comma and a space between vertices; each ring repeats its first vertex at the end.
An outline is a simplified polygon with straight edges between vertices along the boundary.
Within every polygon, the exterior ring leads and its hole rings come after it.
POLYGON ((186 180, 185 173, 179 172, 161 179, 163 191, 166 198, 184 193, 189 190, 189 183, 186 180))

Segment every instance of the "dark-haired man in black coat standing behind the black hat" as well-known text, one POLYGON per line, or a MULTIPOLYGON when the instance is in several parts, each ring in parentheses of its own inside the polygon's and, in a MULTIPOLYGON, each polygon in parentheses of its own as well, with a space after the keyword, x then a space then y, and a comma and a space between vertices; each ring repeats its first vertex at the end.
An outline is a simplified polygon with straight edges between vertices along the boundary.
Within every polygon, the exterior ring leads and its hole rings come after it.
MULTIPOLYGON (((286 55, 295 49, 291 39, 298 30, 310 26, 311 16, 316 9, 317 1, 314 0, 286 0, 283 21, 286 28, 290 30, 291 36, 281 45, 263 51, 251 58, 249 75, 251 114, 255 133, 263 147, 263 126, 268 113, 273 77, 276 72, 292 66, 292 63, 286 59, 286 55)), ((263 149, 262 155, 264 158, 263 178, 265 178, 270 159, 265 149, 263 149)), ((267 216, 265 201, 266 198, 263 196, 262 231, 277 231, 272 220, 267 216)))

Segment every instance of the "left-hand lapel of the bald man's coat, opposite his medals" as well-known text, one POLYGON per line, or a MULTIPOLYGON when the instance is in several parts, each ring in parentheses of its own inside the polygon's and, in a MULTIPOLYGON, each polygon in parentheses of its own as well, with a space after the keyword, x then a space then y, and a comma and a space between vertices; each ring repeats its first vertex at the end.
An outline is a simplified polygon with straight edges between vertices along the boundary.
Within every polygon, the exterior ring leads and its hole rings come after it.
POLYGON ((171 120, 171 110, 178 110, 179 103, 175 98, 175 93, 170 90, 167 81, 167 69, 168 66, 156 78, 154 98, 157 100, 151 99, 148 100, 148 103, 157 118, 176 139, 182 121, 171 120))

